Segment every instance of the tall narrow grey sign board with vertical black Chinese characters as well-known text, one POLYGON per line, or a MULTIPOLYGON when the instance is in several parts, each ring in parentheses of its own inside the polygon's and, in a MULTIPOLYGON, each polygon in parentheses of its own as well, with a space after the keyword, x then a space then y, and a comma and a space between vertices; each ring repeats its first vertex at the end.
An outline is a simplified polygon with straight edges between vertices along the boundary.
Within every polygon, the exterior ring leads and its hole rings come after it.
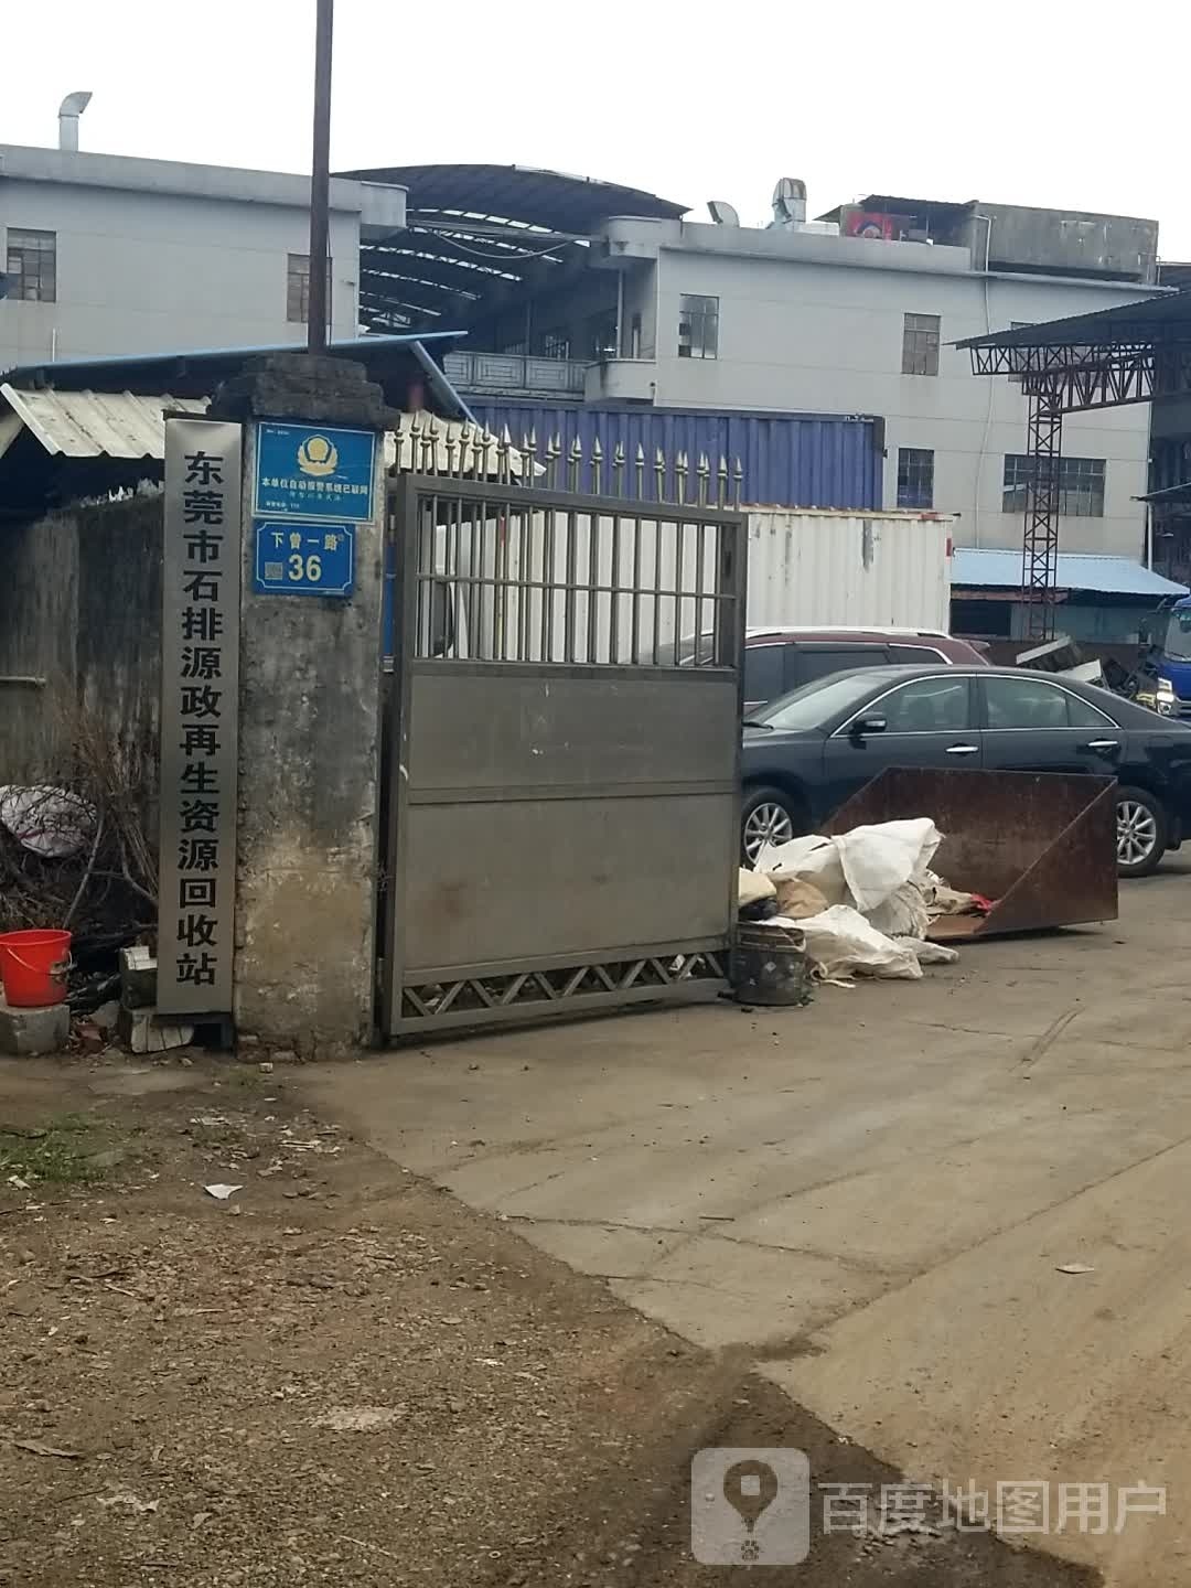
POLYGON ((157 1008, 232 1010, 238 424, 165 421, 157 1008))

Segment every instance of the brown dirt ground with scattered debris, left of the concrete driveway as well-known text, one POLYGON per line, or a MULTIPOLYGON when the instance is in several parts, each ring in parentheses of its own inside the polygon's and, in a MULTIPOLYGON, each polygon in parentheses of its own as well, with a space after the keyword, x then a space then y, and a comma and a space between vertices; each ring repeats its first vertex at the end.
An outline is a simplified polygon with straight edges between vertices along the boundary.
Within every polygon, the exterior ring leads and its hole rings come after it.
MULTIPOLYGON (((710 1588, 745 1567, 691 1558, 699 1448, 896 1480, 738 1353, 321 1124, 284 1073, 203 1058, 0 1066, 0 1363, 13 1588, 710 1588)), ((1093 1580, 937 1513, 819 1517, 770 1582, 1093 1580)))

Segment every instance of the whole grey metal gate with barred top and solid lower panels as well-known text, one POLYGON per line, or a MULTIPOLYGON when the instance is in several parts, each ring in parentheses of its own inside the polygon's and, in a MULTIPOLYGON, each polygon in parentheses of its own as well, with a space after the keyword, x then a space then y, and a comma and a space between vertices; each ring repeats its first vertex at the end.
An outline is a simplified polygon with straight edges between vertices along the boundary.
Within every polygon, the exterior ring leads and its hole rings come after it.
POLYGON ((724 986, 745 522, 391 480, 389 1035, 724 986))

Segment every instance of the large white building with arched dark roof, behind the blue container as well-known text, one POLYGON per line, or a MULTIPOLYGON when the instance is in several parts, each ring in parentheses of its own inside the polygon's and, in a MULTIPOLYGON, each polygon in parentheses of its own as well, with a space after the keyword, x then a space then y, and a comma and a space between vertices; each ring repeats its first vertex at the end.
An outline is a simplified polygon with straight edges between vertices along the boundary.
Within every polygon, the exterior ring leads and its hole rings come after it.
MULTIPOLYGON (((464 214, 481 213, 467 170, 368 175, 408 181, 410 225, 430 229, 448 197, 464 214)), ((484 173, 492 186, 491 168, 473 170, 476 184, 484 173)), ((808 222, 802 184, 783 183, 791 197, 770 227, 743 227, 726 205, 721 224, 692 222, 642 194, 632 197, 648 208, 613 213, 608 191, 605 219, 575 237, 572 195, 551 191, 549 173, 515 175, 521 183, 507 173, 499 192, 507 208, 483 211, 483 237, 476 229, 468 248, 483 238, 492 248, 495 211, 510 218, 507 246, 519 243, 527 262, 505 265, 515 279, 462 305, 462 318, 456 308, 451 324, 468 340, 446 368, 465 394, 873 414, 885 422, 885 505, 959 513, 958 540, 969 546, 1021 545, 1026 402, 1018 386, 973 376, 951 343, 1159 291, 1153 221, 873 197, 808 222), (526 233, 530 198, 537 230, 526 233)), ((588 184, 588 208, 597 189, 588 184)), ((435 248, 441 259, 441 235, 435 248)), ((1142 554, 1132 499, 1147 489, 1148 434, 1148 405, 1066 422, 1064 549, 1142 554)))

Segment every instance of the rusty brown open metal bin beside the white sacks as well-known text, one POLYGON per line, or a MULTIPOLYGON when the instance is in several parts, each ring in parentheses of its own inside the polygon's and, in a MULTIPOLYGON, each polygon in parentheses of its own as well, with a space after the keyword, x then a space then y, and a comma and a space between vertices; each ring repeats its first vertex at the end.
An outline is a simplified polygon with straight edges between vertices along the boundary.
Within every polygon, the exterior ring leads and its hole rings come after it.
POLYGON ((931 816, 943 834, 932 869, 953 888, 994 900, 986 916, 942 916, 929 934, 937 942, 1115 921, 1115 786, 1113 778, 1051 772, 891 767, 821 831, 931 816))

